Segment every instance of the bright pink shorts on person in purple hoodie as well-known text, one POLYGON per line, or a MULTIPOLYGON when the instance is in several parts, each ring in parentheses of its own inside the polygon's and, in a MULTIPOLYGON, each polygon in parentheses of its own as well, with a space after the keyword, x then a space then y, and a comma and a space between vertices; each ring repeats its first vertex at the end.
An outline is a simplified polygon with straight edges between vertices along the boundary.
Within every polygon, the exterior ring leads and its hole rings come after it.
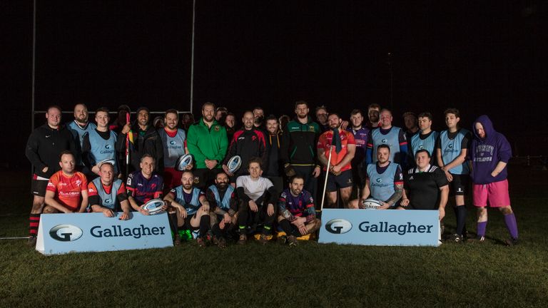
POLYGON ((473 184, 474 206, 485 207, 489 201, 490 207, 504 207, 510 205, 508 180, 489 184, 473 184))

